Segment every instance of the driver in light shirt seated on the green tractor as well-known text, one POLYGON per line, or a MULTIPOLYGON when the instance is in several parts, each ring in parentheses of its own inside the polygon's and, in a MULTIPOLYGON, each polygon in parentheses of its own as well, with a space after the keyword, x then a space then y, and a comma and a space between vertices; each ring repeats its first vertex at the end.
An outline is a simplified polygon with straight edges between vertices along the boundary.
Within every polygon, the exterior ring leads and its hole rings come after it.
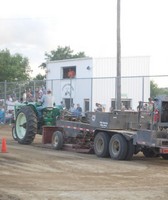
POLYGON ((47 94, 44 94, 42 96, 40 102, 41 102, 41 106, 37 107, 37 111, 38 111, 39 117, 42 117, 41 111, 44 108, 55 106, 55 100, 54 100, 54 97, 52 96, 52 92, 50 89, 47 90, 47 94))

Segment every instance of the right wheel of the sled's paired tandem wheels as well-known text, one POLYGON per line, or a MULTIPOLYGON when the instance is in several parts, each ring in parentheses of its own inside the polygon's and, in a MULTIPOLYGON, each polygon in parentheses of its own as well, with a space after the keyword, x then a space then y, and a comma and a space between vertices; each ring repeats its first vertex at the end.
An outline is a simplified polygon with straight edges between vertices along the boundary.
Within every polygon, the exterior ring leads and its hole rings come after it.
POLYGON ((128 152, 127 141, 124 136, 115 134, 109 142, 109 153, 114 160, 125 160, 128 152))

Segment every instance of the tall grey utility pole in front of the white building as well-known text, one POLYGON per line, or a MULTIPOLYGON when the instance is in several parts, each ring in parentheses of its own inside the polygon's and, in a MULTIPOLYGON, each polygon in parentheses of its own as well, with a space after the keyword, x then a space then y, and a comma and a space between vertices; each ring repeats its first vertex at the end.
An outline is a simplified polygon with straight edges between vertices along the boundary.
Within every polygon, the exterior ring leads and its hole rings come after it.
POLYGON ((121 110, 121 38, 120 38, 120 0, 117 0, 117 79, 116 79, 116 108, 121 110))

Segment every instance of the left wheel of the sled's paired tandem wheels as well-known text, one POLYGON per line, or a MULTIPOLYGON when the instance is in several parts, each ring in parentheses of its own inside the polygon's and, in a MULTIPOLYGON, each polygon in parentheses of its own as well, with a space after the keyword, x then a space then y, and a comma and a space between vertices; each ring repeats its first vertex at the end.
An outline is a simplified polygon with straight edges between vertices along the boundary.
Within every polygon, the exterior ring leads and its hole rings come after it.
POLYGON ((94 139, 94 152, 98 157, 109 157, 110 136, 105 132, 99 132, 94 139))

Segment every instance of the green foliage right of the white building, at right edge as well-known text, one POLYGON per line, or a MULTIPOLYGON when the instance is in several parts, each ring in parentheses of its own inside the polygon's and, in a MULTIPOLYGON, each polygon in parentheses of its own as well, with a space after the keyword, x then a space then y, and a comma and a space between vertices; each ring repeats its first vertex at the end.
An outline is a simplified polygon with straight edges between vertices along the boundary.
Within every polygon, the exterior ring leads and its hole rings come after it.
POLYGON ((158 85, 152 80, 150 82, 150 94, 151 97, 156 97, 158 95, 168 95, 168 88, 159 88, 158 85))

